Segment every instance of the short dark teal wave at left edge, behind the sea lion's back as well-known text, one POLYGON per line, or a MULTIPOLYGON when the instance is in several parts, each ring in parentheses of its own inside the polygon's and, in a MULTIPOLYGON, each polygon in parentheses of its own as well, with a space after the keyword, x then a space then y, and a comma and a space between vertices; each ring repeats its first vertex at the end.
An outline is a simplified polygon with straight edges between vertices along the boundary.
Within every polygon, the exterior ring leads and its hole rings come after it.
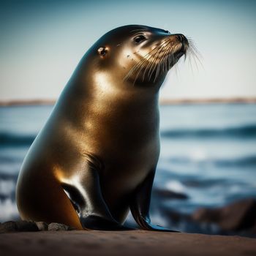
POLYGON ((36 136, 0 132, 0 146, 30 146, 36 136))

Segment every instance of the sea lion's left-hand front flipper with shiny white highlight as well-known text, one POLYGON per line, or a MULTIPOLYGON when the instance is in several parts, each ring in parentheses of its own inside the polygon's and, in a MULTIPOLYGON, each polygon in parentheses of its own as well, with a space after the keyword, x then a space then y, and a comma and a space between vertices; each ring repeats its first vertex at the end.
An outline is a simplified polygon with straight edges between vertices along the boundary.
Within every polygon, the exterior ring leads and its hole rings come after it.
POLYGON ((94 230, 125 230, 112 217, 99 184, 99 171, 102 165, 96 157, 86 154, 86 164, 83 170, 77 172, 74 178, 62 182, 62 187, 75 210, 78 213, 81 225, 86 229, 94 230))

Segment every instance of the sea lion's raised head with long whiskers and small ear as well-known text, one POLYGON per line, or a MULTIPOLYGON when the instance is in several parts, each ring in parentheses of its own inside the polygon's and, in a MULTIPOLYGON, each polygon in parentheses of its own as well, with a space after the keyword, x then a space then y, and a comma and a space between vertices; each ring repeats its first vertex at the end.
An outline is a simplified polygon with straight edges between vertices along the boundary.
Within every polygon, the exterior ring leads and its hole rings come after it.
POLYGON ((102 36, 89 50, 94 74, 113 83, 159 88, 167 72, 186 54, 183 34, 149 26, 121 26, 102 36), (95 70, 96 68, 96 70, 95 70))

